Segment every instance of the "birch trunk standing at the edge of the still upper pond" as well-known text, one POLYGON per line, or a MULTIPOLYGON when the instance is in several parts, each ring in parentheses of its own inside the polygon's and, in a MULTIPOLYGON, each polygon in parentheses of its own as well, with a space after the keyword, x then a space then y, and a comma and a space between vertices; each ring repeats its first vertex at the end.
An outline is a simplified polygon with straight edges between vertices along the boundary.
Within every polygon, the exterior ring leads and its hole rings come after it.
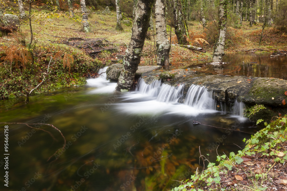
POLYGON ((218 37, 214 46, 212 62, 222 62, 224 56, 225 33, 227 24, 227 0, 221 0, 218 11, 218 37))

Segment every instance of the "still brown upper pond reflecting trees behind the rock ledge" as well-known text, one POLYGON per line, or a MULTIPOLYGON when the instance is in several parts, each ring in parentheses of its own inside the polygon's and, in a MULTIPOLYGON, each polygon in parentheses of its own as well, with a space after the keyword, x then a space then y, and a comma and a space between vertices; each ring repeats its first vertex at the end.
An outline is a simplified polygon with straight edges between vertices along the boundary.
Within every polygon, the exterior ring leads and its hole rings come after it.
POLYGON ((194 70, 215 71, 220 74, 236 74, 243 76, 280 78, 287 80, 287 58, 278 56, 270 58, 271 53, 265 54, 226 54, 222 62, 224 68, 218 69, 218 66, 206 65, 202 68, 189 68, 194 70))

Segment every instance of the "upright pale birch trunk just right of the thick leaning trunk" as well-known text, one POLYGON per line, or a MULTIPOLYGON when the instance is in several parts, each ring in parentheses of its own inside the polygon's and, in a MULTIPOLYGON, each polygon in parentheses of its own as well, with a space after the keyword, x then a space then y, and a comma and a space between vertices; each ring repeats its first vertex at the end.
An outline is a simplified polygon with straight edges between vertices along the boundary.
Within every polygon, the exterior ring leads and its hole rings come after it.
POLYGON ((169 51, 170 44, 166 34, 166 16, 165 16, 165 0, 156 0, 155 16, 156 16, 156 50, 157 64, 169 69, 169 51))

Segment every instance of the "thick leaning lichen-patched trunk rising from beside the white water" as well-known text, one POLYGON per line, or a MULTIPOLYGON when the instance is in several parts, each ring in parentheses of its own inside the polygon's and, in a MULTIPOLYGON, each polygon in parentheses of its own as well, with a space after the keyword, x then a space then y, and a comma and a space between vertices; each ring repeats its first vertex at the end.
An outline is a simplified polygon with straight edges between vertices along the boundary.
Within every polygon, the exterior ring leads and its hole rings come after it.
POLYGON ((123 60, 123 69, 115 91, 131 91, 135 79, 135 72, 141 60, 141 52, 148 30, 150 13, 154 0, 138 0, 135 19, 132 27, 131 41, 123 60))

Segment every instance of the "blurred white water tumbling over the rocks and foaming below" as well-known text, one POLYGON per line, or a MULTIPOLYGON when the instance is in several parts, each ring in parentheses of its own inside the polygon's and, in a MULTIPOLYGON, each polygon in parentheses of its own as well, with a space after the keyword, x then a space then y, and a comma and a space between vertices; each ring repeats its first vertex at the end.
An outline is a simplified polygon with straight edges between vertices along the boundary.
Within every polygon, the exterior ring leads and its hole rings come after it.
MULTIPOLYGON (((101 69, 98 73, 106 71, 101 69)), ((116 83, 106 80, 106 74, 103 73, 100 78, 87 80, 88 86, 96 87, 89 93, 113 93, 116 83)), ((185 103, 178 103, 183 96, 184 84, 170 86, 163 84, 161 80, 154 80, 146 84, 144 79, 140 78, 137 87, 133 92, 121 93, 117 103, 113 108, 127 114, 175 114, 197 116, 205 113, 216 113, 216 102, 212 99, 212 92, 199 85, 191 85, 187 91, 185 103)), ((226 107, 224 111, 226 110, 226 107)), ((224 112, 222 111, 222 112, 224 112)), ((224 112, 225 113, 225 112, 224 112)), ((243 116, 243 104, 235 102, 234 115, 243 116)), ((238 117, 239 117, 238 116, 238 117)))

